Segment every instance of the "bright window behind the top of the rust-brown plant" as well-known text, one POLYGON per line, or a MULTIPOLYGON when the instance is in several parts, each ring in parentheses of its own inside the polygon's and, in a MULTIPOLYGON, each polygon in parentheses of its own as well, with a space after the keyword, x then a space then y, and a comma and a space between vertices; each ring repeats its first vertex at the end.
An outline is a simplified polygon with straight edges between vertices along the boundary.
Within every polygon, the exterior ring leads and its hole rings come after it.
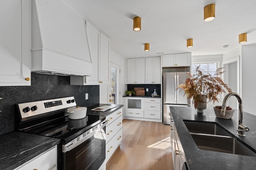
POLYGON ((211 74, 213 76, 217 70, 218 63, 194 63, 192 64, 192 75, 196 73, 196 67, 199 65, 203 74, 211 74))

